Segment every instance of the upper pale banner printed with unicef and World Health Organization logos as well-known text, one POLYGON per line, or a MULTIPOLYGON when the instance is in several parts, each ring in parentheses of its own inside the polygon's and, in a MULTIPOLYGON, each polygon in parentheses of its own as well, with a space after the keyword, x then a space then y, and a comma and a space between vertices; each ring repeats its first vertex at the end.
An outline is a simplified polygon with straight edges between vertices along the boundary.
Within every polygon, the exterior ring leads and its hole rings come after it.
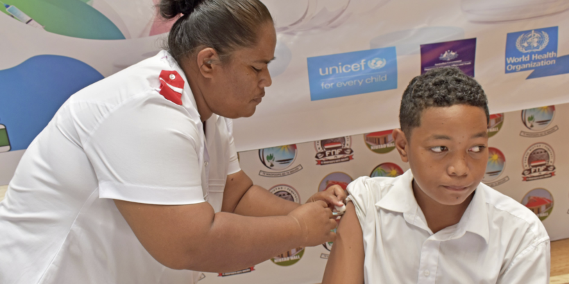
MULTIPOLYGON (((160 50, 158 1, 0 0, 0 184, 71 94, 160 50)), ((491 112, 569 101, 567 0, 262 1, 273 86, 235 121, 239 151, 396 127, 409 80, 437 66, 474 75, 491 112)))

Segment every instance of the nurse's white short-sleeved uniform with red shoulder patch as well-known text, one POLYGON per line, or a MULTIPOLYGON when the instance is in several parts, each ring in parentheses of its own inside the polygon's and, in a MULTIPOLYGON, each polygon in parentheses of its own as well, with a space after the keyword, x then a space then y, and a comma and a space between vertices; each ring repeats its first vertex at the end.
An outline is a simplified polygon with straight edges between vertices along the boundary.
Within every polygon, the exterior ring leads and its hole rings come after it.
POLYGON ((148 254, 113 199, 219 212, 240 168, 231 121, 206 127, 165 51, 71 96, 0 202, 0 283, 195 283, 148 254))

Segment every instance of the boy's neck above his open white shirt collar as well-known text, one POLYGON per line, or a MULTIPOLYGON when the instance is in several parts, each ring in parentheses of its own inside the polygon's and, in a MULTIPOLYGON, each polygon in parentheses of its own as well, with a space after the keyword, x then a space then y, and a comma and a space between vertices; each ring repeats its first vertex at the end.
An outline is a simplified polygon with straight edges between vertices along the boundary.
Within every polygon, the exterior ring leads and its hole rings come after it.
POLYGON ((454 224, 458 224, 464 214, 464 211, 468 208, 470 200, 473 199, 474 193, 466 198, 466 200, 461 204, 444 205, 436 202, 434 199, 426 195, 423 190, 419 188, 415 180, 413 180, 413 194, 415 195, 417 204, 421 207, 421 210, 425 215, 427 226, 433 233, 441 231, 442 229, 454 224))

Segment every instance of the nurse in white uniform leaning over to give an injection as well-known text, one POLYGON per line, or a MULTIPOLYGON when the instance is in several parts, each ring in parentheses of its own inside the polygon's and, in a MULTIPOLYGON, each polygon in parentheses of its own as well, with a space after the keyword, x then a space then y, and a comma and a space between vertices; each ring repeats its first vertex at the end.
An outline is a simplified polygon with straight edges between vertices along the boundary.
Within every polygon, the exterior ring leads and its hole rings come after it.
POLYGON ((271 85, 258 0, 162 0, 167 51, 74 96, 0 203, 0 283, 195 283, 333 241, 339 186, 298 205, 239 168, 232 118, 271 85))

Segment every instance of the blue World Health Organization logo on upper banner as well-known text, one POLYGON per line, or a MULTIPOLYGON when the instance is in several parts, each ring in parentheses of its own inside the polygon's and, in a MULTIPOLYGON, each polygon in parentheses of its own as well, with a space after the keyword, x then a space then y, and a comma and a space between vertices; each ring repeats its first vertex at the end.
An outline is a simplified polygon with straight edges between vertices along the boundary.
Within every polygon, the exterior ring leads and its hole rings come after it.
POLYGON ((554 65, 557 62, 557 35, 557 26, 509 33, 506 39, 506 73, 554 65))

